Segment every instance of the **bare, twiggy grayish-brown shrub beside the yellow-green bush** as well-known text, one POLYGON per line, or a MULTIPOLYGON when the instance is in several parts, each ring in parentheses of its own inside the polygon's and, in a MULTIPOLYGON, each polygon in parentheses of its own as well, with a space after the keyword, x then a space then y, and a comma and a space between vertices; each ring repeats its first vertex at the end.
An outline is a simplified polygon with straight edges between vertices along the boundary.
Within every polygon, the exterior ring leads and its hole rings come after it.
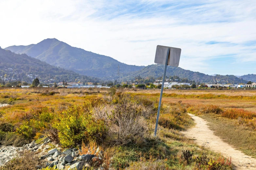
POLYGON ((112 102, 114 109, 108 113, 109 120, 115 125, 111 129, 111 142, 121 145, 141 143, 147 132, 141 106, 122 93, 115 95, 112 102))

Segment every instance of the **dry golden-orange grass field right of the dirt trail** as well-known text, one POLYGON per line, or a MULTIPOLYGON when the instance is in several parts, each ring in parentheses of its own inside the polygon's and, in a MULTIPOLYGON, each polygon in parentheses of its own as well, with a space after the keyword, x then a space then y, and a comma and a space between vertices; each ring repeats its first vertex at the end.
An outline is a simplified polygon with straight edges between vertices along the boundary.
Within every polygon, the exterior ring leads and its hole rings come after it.
MULTIPOLYGON (((130 92, 159 96, 160 91, 130 92)), ((210 122, 215 135, 256 158, 255 90, 164 90, 162 102, 182 101, 187 111, 210 122)))

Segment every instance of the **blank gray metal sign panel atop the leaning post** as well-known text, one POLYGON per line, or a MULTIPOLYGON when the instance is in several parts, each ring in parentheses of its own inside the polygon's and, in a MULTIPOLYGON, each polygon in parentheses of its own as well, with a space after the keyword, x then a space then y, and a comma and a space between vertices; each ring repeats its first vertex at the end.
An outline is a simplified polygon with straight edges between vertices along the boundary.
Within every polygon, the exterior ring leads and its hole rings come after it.
POLYGON ((174 47, 158 45, 156 50, 155 63, 165 65, 168 48, 170 48, 170 52, 167 65, 178 67, 181 49, 174 47))

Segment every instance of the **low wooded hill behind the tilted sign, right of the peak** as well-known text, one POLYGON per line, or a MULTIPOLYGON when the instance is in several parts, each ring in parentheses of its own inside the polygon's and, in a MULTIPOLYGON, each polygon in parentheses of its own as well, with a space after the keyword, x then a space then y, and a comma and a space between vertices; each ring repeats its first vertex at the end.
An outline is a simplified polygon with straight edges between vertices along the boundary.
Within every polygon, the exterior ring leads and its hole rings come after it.
MULTIPOLYGON (((123 74, 123 79, 132 79, 136 76, 141 77, 162 77, 164 66, 160 64, 152 64, 144 67, 140 71, 136 71, 130 74, 123 74)), ((237 78, 233 75, 215 75, 210 76, 199 72, 194 72, 190 70, 185 70, 180 67, 167 66, 166 76, 178 76, 179 78, 188 78, 189 80, 194 80, 196 82, 207 82, 207 83, 246 83, 247 81, 237 78)))

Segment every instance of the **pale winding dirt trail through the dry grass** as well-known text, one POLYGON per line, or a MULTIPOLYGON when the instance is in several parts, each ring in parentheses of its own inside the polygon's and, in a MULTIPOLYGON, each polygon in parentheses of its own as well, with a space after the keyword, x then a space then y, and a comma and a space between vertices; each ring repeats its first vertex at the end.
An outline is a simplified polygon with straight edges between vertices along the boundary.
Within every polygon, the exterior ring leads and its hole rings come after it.
POLYGON ((256 170, 256 159, 245 155, 240 150, 236 150, 214 135, 213 131, 209 129, 206 120, 193 114, 189 115, 195 120, 196 127, 183 131, 183 134, 190 138, 195 138, 196 142, 201 146, 207 147, 214 152, 219 152, 225 157, 231 157, 231 162, 236 170, 256 170))

